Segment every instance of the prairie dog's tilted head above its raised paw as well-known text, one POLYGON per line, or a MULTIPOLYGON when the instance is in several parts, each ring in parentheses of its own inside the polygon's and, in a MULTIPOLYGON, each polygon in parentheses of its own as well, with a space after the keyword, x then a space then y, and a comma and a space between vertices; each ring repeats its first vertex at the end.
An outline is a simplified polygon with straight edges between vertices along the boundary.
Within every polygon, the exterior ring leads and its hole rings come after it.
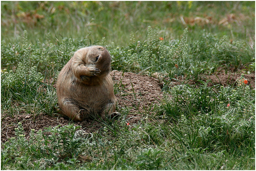
POLYGON ((111 57, 108 50, 102 46, 89 46, 77 50, 74 54, 81 64, 86 67, 95 67, 101 73, 109 73, 111 71, 111 57))

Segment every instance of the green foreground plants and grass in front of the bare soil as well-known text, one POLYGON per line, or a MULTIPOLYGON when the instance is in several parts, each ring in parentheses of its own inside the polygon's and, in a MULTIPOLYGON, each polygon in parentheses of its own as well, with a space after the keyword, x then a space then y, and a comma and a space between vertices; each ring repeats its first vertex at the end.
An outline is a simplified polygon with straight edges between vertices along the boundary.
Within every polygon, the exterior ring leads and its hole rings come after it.
POLYGON ((111 124, 105 122, 97 133, 86 133, 70 124, 36 133, 31 130, 26 139, 19 123, 16 137, 3 144, 1 167, 253 169, 255 98, 254 91, 241 80, 243 76, 238 80, 241 85, 220 87, 219 91, 205 85, 173 87, 171 94, 187 93, 164 100, 159 107, 161 119, 147 115, 134 127, 119 118, 111 124), (204 96, 205 92, 209 93, 204 96), (200 98, 209 103, 198 102, 200 98), (189 110, 192 106, 200 110, 189 110))

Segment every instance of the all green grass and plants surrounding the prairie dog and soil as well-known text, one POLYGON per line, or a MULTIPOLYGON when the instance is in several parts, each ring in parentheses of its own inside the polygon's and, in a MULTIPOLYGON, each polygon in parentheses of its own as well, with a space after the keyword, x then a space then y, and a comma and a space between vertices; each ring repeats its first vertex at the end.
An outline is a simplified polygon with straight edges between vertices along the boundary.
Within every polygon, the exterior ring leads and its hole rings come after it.
POLYGON ((255 170, 255 89, 243 82, 255 72, 253 15, 250 1, 1 2, 2 115, 56 113, 58 72, 92 44, 108 48, 112 70, 159 73, 165 94, 132 126, 130 106, 93 133, 70 123, 26 138, 16 123, 1 169, 255 170), (219 68, 242 73, 237 86, 202 81, 219 68), (170 87, 178 76, 196 85, 170 87))

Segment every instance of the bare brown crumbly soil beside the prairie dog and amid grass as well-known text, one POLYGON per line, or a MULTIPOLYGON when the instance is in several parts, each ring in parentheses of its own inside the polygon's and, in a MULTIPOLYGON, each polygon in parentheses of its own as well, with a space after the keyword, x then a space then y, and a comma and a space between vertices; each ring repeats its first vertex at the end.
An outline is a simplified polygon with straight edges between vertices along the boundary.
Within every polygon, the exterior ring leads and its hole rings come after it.
MULTIPOLYGON (((112 71, 111 75, 114 80, 114 84, 117 85, 115 89, 116 98, 118 102, 118 110, 128 113, 126 119, 129 124, 137 123, 143 118, 142 113, 147 113, 150 107, 159 104, 159 101, 163 98, 163 92, 161 91, 161 83, 154 77, 138 75, 135 73, 123 73, 120 71, 112 71), (128 110, 128 111, 127 111, 128 110), (145 112, 146 111, 146 112, 145 112)), ((221 84, 223 86, 235 84, 237 78, 241 74, 234 73, 220 73, 211 76, 203 76, 203 80, 211 79, 211 85, 221 84)), ((255 88, 255 73, 246 75, 248 84, 251 84, 252 88, 255 88)), ((182 80, 178 78, 178 81, 171 82, 172 85, 180 84, 182 80)), ((194 84, 193 81, 187 81, 188 84, 194 84)), ((209 86, 211 86, 209 85, 209 86)), ((147 113, 151 115, 152 113, 147 113)), ((15 136, 15 128, 17 123, 22 122, 24 127, 25 136, 29 138, 31 129, 44 130, 45 127, 55 127, 57 125, 68 125, 70 122, 74 125, 80 125, 84 131, 90 133, 98 131, 103 127, 103 124, 96 120, 86 120, 83 122, 73 122, 69 118, 62 115, 47 115, 41 113, 36 118, 28 115, 27 113, 21 113, 14 118, 9 115, 1 115, 1 142, 8 141, 9 138, 15 136)))

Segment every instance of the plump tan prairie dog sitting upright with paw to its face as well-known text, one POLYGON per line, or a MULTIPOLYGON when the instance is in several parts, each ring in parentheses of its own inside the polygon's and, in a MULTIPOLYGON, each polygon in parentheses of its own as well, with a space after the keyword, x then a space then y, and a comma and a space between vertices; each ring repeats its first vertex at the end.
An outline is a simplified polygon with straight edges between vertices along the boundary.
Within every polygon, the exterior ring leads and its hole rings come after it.
POLYGON ((111 57, 101 46, 84 47, 60 71, 57 97, 62 114, 74 121, 115 112, 111 57))

